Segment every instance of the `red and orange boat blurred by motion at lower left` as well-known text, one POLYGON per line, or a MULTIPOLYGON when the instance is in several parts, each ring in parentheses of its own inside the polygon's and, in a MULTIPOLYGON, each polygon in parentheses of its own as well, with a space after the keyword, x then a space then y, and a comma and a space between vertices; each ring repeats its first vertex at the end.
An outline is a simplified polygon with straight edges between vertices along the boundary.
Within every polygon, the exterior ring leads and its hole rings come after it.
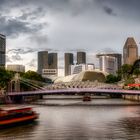
POLYGON ((7 107, 0 108, 0 128, 25 124, 37 119, 38 113, 32 107, 7 107))

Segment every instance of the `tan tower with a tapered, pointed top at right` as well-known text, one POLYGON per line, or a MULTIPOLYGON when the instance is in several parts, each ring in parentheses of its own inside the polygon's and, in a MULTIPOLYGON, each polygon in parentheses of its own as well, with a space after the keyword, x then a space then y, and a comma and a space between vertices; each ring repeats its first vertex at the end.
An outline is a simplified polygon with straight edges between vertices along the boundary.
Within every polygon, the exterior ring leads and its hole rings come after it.
POLYGON ((123 47, 124 64, 133 65, 138 59, 138 46, 133 37, 128 37, 123 47))

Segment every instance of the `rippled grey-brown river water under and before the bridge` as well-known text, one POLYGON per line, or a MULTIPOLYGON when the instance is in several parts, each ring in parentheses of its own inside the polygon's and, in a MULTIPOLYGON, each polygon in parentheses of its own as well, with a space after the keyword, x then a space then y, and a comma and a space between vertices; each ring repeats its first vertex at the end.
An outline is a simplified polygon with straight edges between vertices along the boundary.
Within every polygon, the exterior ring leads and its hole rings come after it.
POLYGON ((0 140, 140 140, 140 105, 136 102, 60 98, 32 106, 40 113, 39 119, 1 129, 0 140))

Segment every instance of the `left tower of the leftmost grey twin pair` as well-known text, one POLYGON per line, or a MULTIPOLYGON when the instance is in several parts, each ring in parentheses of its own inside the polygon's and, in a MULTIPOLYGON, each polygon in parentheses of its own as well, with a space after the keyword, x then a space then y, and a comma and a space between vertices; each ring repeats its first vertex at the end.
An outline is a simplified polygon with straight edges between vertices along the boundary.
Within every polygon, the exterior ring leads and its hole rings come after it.
POLYGON ((38 73, 42 74, 43 69, 48 69, 48 52, 38 52, 38 73))

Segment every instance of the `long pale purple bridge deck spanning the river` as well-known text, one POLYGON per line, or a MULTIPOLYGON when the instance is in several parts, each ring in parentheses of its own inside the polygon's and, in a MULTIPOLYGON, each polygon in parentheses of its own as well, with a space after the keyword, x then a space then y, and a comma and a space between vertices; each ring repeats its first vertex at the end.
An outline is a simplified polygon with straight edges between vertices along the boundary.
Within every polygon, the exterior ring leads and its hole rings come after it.
POLYGON ((140 95, 139 90, 124 90, 124 89, 98 89, 98 88, 68 88, 57 90, 37 90, 26 92, 9 92, 8 96, 27 96, 27 95, 48 95, 48 94, 70 94, 70 93, 102 93, 102 94, 123 94, 123 95, 140 95))

